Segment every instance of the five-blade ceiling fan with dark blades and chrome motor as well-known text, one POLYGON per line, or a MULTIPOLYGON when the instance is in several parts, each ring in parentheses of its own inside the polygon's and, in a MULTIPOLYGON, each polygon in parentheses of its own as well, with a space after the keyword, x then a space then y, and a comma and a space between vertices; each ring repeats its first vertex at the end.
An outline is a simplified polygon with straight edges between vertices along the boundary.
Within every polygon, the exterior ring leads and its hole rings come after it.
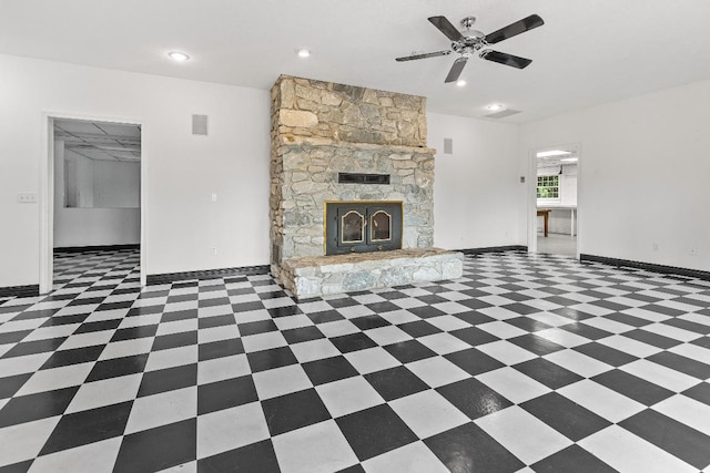
POLYGON ((499 64, 510 65, 517 69, 525 69, 532 62, 529 59, 520 58, 517 55, 508 54, 505 52, 494 51, 487 49, 489 44, 496 44, 500 41, 507 40, 526 31, 532 30, 537 27, 545 24, 542 19, 537 14, 531 14, 523 20, 518 20, 515 23, 510 23, 507 27, 494 31, 489 34, 484 34, 480 31, 471 30, 471 27, 476 22, 476 17, 466 17, 460 23, 465 28, 464 31, 458 31, 456 27, 452 24, 446 17, 430 17, 429 22, 434 24, 446 38, 453 41, 452 49, 445 51, 427 52, 424 54, 412 54, 404 58, 397 58, 396 61, 413 61, 415 59, 436 58, 439 55, 448 55, 452 52, 457 52, 462 56, 454 61, 450 71, 444 82, 455 82, 462 74, 468 58, 477 53, 483 59, 497 62, 499 64))

